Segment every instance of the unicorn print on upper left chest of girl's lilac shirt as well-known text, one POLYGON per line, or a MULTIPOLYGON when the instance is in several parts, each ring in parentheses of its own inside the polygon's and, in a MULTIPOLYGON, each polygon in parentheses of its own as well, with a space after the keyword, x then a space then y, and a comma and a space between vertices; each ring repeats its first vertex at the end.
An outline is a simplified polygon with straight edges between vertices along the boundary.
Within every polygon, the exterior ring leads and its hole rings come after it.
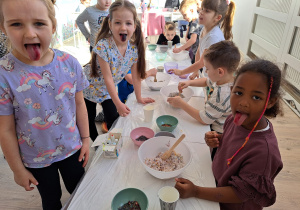
POLYGON ((48 86, 50 86, 53 90, 55 89, 51 85, 53 79, 51 72, 48 70, 44 70, 41 75, 36 73, 27 73, 21 78, 20 86, 17 88, 17 91, 25 92, 31 88, 32 84, 34 84, 38 88, 40 95, 42 95, 41 89, 43 89, 44 92, 47 92, 46 88, 48 88, 48 86))

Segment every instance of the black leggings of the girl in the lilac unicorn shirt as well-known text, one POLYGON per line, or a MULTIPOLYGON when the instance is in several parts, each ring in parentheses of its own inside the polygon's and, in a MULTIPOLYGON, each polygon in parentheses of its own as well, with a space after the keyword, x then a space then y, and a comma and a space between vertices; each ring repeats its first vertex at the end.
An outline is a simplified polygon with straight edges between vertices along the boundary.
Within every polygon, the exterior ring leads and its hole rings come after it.
POLYGON ((84 174, 83 162, 79 162, 80 150, 72 156, 55 162, 45 168, 27 168, 38 181, 37 188, 42 198, 44 210, 59 210, 61 204, 61 186, 59 173, 70 194, 75 190, 78 182, 84 174))

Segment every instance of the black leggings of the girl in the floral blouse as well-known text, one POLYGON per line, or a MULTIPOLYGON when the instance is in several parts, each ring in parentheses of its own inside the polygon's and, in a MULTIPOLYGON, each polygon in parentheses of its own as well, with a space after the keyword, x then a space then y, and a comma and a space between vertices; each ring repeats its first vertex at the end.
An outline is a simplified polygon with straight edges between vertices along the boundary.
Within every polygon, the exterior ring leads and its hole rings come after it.
MULTIPOLYGON (((96 106, 97 103, 94 103, 92 101, 89 101, 87 99, 84 99, 86 108, 88 110, 88 117, 89 117, 89 129, 90 129, 90 137, 92 141, 95 141, 95 139, 98 136, 98 131, 95 124, 95 117, 96 117, 96 106)), ((105 100, 101 103, 104 119, 107 123, 107 129, 109 130, 116 119, 118 119, 119 114, 117 112, 117 108, 114 104, 114 102, 111 99, 105 100)))

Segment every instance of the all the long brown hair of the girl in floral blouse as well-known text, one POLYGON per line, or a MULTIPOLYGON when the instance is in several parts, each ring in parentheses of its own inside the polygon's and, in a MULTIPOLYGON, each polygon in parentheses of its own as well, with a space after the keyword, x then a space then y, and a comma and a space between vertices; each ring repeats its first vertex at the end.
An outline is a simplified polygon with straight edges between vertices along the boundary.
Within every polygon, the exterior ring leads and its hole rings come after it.
MULTIPOLYGON (((99 40, 104 38, 109 38, 112 36, 112 33, 109 29, 109 21, 113 19, 113 12, 117 11, 120 8, 126 8, 133 14, 134 23, 136 25, 135 32, 133 36, 131 37, 130 42, 132 44, 135 44, 138 49, 138 62, 137 62, 137 71, 140 75, 141 79, 144 79, 146 77, 146 60, 145 60, 145 47, 144 47, 144 39, 142 36, 142 29, 141 29, 141 23, 137 18, 137 13, 135 6, 127 1, 127 0, 116 0, 109 8, 109 15, 104 19, 102 23, 102 27, 100 32, 98 33, 96 37, 95 43, 97 43, 99 40)), ((99 77, 99 72, 97 69, 97 55, 96 53, 92 52, 92 59, 90 61, 91 63, 91 77, 99 77)))

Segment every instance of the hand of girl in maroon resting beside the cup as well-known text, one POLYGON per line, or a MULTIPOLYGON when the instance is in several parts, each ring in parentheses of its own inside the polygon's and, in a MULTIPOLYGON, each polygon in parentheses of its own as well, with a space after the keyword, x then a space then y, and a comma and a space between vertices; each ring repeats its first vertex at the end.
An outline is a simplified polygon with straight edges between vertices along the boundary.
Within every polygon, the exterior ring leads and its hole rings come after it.
POLYGON ((196 197, 197 186, 190 180, 176 178, 175 188, 179 191, 180 198, 196 197))

